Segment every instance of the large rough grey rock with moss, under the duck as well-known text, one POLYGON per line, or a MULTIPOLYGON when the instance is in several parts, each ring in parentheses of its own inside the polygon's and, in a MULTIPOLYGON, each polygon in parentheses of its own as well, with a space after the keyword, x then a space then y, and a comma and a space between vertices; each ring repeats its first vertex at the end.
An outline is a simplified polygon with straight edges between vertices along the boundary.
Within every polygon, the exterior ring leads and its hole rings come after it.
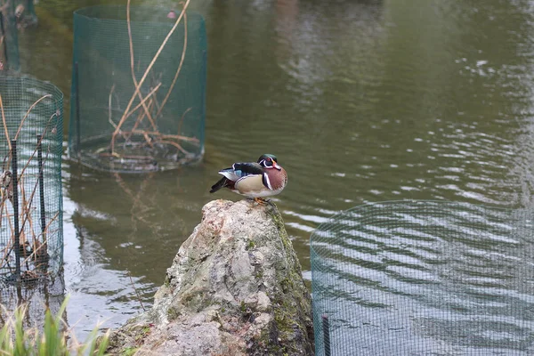
POLYGON ((276 207, 214 200, 114 354, 311 355, 312 307, 276 207))

